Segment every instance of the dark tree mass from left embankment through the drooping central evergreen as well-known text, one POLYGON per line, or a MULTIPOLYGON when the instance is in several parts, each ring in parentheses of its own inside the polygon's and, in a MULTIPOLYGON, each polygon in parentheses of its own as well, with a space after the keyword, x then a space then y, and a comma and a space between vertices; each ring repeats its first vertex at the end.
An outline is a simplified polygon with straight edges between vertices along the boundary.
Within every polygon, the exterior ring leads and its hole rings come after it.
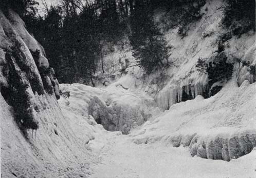
POLYGON ((34 0, 9 3, 45 48, 61 83, 94 85, 98 65, 105 72, 103 47, 118 43, 124 35, 131 41, 138 65, 147 73, 168 63, 167 44, 153 21, 155 1, 62 0, 54 7, 45 5, 43 16, 36 13, 35 5, 34 0))

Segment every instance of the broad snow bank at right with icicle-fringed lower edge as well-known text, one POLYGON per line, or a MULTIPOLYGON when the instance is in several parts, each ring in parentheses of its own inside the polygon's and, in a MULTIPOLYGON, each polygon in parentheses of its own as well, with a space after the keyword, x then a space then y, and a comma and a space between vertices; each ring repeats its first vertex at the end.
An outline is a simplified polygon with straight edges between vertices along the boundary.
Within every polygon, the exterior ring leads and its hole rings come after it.
POLYGON ((255 84, 230 81, 216 95, 174 104, 134 133, 135 143, 189 146, 191 155, 231 159, 256 147, 255 84))

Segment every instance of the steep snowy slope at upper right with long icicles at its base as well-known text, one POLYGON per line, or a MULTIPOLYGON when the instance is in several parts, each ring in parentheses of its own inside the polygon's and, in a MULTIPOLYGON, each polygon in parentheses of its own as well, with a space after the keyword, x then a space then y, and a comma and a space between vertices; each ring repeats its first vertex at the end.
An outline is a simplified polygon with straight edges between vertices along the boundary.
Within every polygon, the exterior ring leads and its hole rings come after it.
MULTIPOLYGON (((228 32, 221 26, 223 4, 224 2, 221 0, 207 1, 200 12, 202 18, 189 25, 188 35, 184 38, 177 35, 177 29, 166 33, 167 41, 172 46, 170 61, 174 64, 168 70, 168 75, 172 76, 171 79, 157 96, 159 107, 165 109, 180 102, 183 92, 189 94, 191 90, 192 96, 195 98, 207 91, 207 87, 209 87, 207 74, 197 71, 195 66, 198 58, 209 61, 212 56, 216 55, 218 42, 228 32), (205 34, 208 36, 206 37, 205 34), (182 87, 185 87, 185 90, 182 87)), ((230 62, 234 62, 235 57, 247 58, 246 61, 250 62, 255 61, 255 32, 243 34, 239 39, 233 36, 224 43, 224 46, 230 62), (250 55, 244 57, 248 51, 251 51, 250 55)), ((251 82, 247 73, 240 72, 241 67, 234 68, 233 72, 238 74, 237 78, 233 79, 238 80, 239 84, 242 84, 244 80, 251 82)))

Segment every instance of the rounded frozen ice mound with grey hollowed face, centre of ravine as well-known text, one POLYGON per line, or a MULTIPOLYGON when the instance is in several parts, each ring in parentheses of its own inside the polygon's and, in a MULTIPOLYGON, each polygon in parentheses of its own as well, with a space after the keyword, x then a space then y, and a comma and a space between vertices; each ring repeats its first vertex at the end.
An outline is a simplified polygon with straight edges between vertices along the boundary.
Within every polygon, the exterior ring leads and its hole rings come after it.
POLYGON ((98 89, 81 84, 61 84, 60 88, 63 92, 70 91, 69 100, 60 102, 70 102, 69 107, 91 115, 109 131, 127 134, 159 112, 152 98, 136 95, 119 85, 98 89))

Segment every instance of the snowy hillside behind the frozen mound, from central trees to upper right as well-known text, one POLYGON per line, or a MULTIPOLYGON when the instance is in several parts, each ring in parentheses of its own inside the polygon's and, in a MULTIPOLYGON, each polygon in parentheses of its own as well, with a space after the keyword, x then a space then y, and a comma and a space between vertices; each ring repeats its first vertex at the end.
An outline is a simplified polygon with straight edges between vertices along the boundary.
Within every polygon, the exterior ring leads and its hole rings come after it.
MULTIPOLYGON (((132 56, 132 48, 129 41, 124 39, 124 46, 115 46, 115 51, 104 56, 105 70, 107 74, 99 74, 102 87, 103 82, 107 85, 122 84, 126 88, 131 88, 140 93, 145 92, 155 98, 157 106, 161 109, 169 109, 174 103, 181 102, 182 94, 191 91, 193 98, 197 95, 208 93, 211 86, 208 85, 209 79, 206 73, 196 70, 198 58, 208 62, 216 56, 218 44, 222 37, 229 31, 222 27, 224 17, 224 1, 206 1, 201 8, 200 18, 188 26, 185 37, 177 34, 178 29, 170 29, 164 32, 168 45, 172 47, 169 62, 172 64, 166 71, 157 71, 151 75, 143 75, 143 70, 136 65, 136 60, 132 56), (207 9, 207 10, 206 10, 207 9), (120 70, 129 61, 126 69, 127 74, 120 70), (109 79, 109 75, 111 76, 109 79), (114 79, 113 79, 114 78, 114 79)), ((156 12, 156 21, 161 23, 163 12, 156 12)), ((235 62, 236 58, 255 63, 255 32, 250 31, 242 34, 241 37, 232 36, 224 42, 225 54, 228 61, 234 63, 233 78, 239 85, 248 80, 252 83, 252 75, 248 72, 248 67, 235 62)), ((99 70, 100 73, 100 70, 99 70)))

